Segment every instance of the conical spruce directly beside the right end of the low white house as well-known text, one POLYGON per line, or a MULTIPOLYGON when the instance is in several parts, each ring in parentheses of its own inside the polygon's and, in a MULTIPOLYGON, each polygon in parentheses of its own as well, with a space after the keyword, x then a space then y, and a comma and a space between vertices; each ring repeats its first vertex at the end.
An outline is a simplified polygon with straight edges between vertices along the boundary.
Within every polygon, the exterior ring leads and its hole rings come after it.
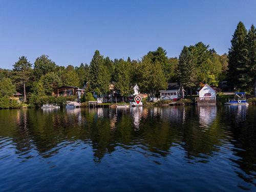
POLYGON ((186 90, 190 89, 191 95, 192 88, 196 86, 196 69, 193 54, 186 46, 183 47, 179 56, 178 74, 180 84, 186 88, 186 90))

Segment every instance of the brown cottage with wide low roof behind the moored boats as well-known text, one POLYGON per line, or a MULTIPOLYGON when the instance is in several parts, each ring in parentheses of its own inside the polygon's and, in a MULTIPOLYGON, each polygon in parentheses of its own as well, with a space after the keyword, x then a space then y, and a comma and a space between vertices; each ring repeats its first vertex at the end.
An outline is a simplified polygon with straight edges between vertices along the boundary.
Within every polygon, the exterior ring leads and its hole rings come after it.
POLYGON ((73 86, 61 86, 53 91, 53 96, 80 96, 84 94, 83 89, 79 89, 78 87, 73 86))

